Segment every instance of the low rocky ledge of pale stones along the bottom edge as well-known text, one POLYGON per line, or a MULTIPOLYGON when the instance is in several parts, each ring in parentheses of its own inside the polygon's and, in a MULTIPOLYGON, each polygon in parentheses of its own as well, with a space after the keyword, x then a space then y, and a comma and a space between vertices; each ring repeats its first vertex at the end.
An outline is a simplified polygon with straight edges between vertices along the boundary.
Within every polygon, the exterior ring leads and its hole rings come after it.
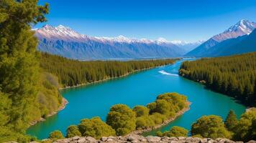
MULTIPOLYGON (((137 143, 137 142, 170 142, 170 143, 215 143, 215 142, 221 142, 221 143, 235 143, 232 140, 229 139, 209 139, 209 138, 198 138, 198 137, 143 137, 137 134, 129 134, 126 137, 101 137, 101 139, 94 139, 93 137, 72 137, 68 139, 58 139, 55 141, 55 143, 101 143, 101 142, 131 142, 131 143, 137 143)), ((243 142, 239 142, 243 143, 243 142)), ((249 143, 256 143, 255 141, 250 141, 249 143)))

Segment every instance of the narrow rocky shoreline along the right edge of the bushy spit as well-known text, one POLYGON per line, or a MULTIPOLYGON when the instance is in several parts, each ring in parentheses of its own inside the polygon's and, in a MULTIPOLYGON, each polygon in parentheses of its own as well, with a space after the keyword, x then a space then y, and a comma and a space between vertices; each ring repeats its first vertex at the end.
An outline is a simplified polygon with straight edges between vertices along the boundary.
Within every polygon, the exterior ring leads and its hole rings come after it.
POLYGON ((150 132, 154 129, 159 129, 160 127, 163 127, 163 126, 169 124, 170 122, 173 122, 175 119, 177 119, 178 117, 183 115, 185 112, 187 112, 190 109, 190 105, 191 105, 191 102, 187 102, 187 107, 185 107, 184 109, 181 109, 179 112, 177 112, 175 114, 174 117, 171 117, 170 119, 165 120, 165 122, 163 122, 162 124, 157 124, 155 127, 151 127, 151 128, 148 128, 148 129, 136 130, 136 131, 134 131, 130 134, 142 134, 142 133, 145 133, 145 132, 150 132))

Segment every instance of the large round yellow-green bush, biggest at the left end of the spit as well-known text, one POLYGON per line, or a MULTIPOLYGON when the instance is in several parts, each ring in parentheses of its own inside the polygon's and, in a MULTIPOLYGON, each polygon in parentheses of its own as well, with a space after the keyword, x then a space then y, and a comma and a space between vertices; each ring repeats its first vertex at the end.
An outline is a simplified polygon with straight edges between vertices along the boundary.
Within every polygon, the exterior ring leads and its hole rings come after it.
POLYGON ((136 128, 136 115, 127 105, 116 104, 111 107, 106 124, 115 129, 118 136, 129 134, 136 128))

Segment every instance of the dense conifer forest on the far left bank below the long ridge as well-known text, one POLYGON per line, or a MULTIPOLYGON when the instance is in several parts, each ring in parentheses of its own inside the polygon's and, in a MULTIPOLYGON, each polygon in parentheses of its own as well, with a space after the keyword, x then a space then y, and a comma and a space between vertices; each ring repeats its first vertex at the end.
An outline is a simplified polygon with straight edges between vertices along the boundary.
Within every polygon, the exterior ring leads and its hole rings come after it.
POLYGON ((77 61, 46 53, 40 55, 40 66, 58 77, 63 87, 121 77, 133 71, 173 64, 175 59, 140 61, 77 61))

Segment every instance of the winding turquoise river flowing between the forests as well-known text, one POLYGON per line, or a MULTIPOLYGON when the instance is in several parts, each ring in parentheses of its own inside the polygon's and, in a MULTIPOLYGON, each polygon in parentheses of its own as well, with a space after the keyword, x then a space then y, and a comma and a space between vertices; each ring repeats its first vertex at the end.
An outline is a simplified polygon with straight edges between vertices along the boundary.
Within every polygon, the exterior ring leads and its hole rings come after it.
POLYGON ((173 65, 141 71, 107 82, 64 89, 61 94, 68 99, 67 107, 45 122, 29 127, 27 133, 38 139, 47 138, 55 129, 65 134, 69 125, 78 124, 83 118, 98 116, 105 120, 106 114, 114 104, 127 104, 131 108, 135 105, 146 105, 155 101, 158 94, 165 92, 185 94, 192 104, 188 112, 160 128, 161 131, 169 130, 173 126, 190 129, 191 124, 203 115, 216 114, 225 118, 230 109, 233 109, 237 116, 244 112, 245 107, 232 98, 211 92, 201 84, 179 77, 178 69, 184 60, 193 59, 182 59, 173 65))

